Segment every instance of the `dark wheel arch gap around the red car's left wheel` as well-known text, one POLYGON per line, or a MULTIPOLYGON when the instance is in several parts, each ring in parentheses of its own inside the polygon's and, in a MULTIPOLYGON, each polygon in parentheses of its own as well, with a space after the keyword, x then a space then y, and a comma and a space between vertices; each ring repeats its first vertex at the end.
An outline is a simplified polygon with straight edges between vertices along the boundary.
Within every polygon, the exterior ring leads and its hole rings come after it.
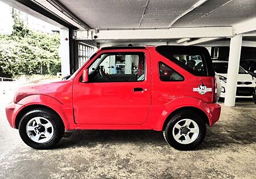
POLYGON ((55 113, 59 118, 60 118, 60 121, 63 123, 63 126, 64 125, 64 122, 63 122, 63 119, 60 117, 60 114, 57 113, 55 110, 53 110, 52 108, 49 108, 48 106, 46 105, 42 105, 42 104, 32 104, 32 105, 28 105, 28 106, 25 106, 23 109, 21 109, 19 111, 19 113, 16 115, 16 118, 15 118, 15 128, 18 129, 19 128, 19 122, 20 120, 22 119, 22 117, 24 116, 24 114, 26 114, 27 112, 29 112, 30 110, 32 109, 38 109, 38 108, 44 108, 44 109, 47 109, 47 110, 50 110, 51 112, 55 113))

